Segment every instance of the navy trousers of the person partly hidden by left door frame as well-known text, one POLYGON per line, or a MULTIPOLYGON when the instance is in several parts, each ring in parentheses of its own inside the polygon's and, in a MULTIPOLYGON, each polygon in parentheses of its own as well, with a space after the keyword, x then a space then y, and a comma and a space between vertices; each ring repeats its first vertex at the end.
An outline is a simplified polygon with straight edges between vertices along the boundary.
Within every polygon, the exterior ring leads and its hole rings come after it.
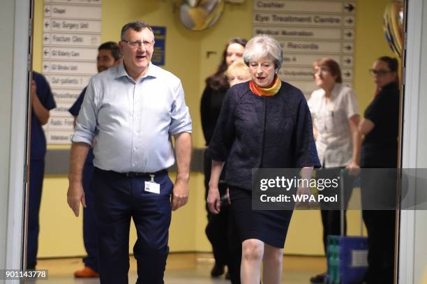
POLYGON ((38 214, 45 175, 45 160, 31 160, 28 199, 27 269, 34 269, 38 251, 38 214))

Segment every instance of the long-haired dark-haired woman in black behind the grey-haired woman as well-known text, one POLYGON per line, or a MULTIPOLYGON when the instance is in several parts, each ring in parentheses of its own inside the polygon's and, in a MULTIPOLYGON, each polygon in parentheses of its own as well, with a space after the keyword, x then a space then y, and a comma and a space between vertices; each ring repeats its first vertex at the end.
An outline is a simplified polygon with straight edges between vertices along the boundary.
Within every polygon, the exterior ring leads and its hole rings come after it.
MULTIPOLYGON (((200 115, 202 118, 202 130, 204 139, 206 140, 206 145, 209 145, 211 137, 213 135, 213 130, 216 126, 216 121, 223 105, 223 100, 225 93, 230 88, 230 84, 225 76, 225 70, 231 63, 237 59, 243 57, 244 49, 246 46, 247 40, 243 38, 232 38, 225 45, 225 50, 223 52, 223 58, 218 66, 218 70, 213 75, 207 77, 206 79, 206 88, 202 94, 202 102, 200 105, 200 115)), ((204 153, 204 186, 205 186, 205 197, 209 190, 209 179, 211 178, 211 157, 205 151, 204 153)), ((227 190, 227 185, 225 183, 220 183, 220 194, 225 196, 227 190)), ((226 203, 226 200, 223 200, 226 203)), ((223 207, 223 211, 220 214, 212 214, 209 209, 208 212, 208 224, 206 227, 206 235, 211 242, 213 257, 215 257, 215 265, 211 271, 212 277, 218 277, 224 273, 224 267, 227 265, 232 283, 239 282, 239 270, 240 270, 240 241, 237 239, 237 252, 230 253, 230 249, 233 244, 233 240, 229 236, 234 235, 229 232, 229 211, 227 207, 223 207), (229 248, 230 246, 230 248, 229 248), (231 260, 230 257, 237 253, 237 260, 231 260), (237 262, 237 263, 234 263, 237 262), (234 263, 234 264, 233 264, 234 263), (233 273, 233 265, 237 266, 237 273, 233 273), (231 266, 231 267, 230 267, 231 266), (235 278, 235 279, 234 279, 235 278)), ((234 219, 233 219, 234 220, 234 219)))

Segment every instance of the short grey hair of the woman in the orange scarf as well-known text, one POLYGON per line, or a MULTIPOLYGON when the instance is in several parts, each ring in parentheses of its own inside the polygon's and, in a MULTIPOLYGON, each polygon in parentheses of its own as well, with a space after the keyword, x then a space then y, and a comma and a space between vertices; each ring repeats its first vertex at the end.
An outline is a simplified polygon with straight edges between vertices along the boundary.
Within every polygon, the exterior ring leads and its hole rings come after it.
POLYGON ((276 73, 282 67, 283 51, 280 43, 267 36, 267 34, 259 34, 251 38, 245 47, 244 62, 249 66, 250 61, 256 61, 262 57, 270 57, 274 61, 276 73))

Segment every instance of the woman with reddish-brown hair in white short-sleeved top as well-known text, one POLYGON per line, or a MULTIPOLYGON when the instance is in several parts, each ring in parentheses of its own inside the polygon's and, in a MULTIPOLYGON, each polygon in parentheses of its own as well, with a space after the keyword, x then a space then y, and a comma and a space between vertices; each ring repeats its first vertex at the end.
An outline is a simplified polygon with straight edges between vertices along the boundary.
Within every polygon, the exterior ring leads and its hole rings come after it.
MULTIPOLYGON (((340 66, 334 59, 315 61, 313 77, 320 89, 313 91, 308 106, 313 117, 317 154, 322 167, 328 169, 319 171, 317 177, 336 178, 337 169, 359 167, 360 135, 357 126, 360 118, 357 98, 350 87, 342 84, 340 66)), ((351 189, 351 185, 352 179, 346 178, 346 191, 351 189)), ((340 234, 340 211, 322 209, 321 212, 326 253, 327 235, 340 234)), ((324 277, 325 274, 319 274, 310 281, 324 283, 324 277)))

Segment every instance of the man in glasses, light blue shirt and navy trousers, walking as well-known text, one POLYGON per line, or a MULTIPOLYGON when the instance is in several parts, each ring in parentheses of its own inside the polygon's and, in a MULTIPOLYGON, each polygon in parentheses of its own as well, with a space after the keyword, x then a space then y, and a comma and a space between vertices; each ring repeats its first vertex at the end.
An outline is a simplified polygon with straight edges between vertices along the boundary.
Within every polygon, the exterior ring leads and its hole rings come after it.
POLYGON ((171 209, 188 200, 190 114, 179 78, 151 63, 153 45, 147 23, 123 26, 123 64, 91 78, 72 138, 67 196, 76 216, 80 203, 86 206, 82 168, 93 146, 101 283, 128 283, 131 217, 137 283, 163 283, 171 209), (172 184, 167 168, 174 154, 172 184))

